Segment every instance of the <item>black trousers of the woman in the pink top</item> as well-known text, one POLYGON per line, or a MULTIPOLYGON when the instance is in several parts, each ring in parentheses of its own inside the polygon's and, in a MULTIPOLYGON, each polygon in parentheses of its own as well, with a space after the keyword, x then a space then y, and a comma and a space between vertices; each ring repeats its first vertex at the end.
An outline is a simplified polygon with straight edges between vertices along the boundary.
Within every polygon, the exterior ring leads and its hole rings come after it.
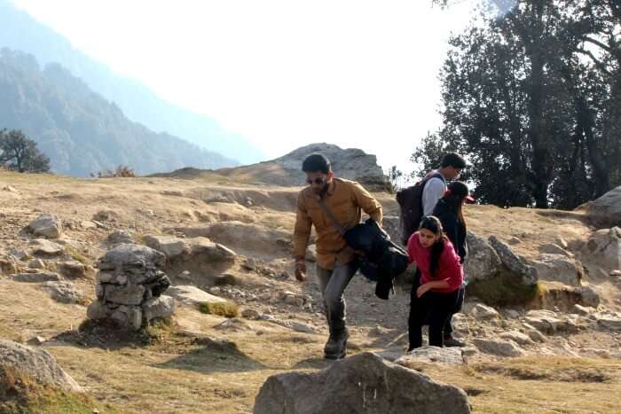
POLYGON ((410 295, 410 317, 408 318, 408 333, 410 347, 421 348, 422 325, 429 325, 429 345, 442 347, 444 345, 444 325, 447 324, 460 298, 461 289, 452 293, 431 292, 416 297, 416 290, 420 284, 414 284, 410 295))

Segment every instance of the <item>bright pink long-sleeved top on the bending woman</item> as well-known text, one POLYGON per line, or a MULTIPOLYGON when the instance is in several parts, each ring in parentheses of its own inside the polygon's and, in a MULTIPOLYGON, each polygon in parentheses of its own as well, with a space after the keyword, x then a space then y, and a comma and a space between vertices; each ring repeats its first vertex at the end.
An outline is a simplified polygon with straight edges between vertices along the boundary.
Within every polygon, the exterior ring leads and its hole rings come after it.
POLYGON ((436 275, 431 276, 429 266, 431 265, 431 251, 421 245, 419 232, 416 231, 407 241, 407 255, 410 263, 415 262, 418 269, 421 269, 421 285, 433 280, 444 280, 449 283, 446 289, 434 289, 435 292, 451 293, 459 289, 464 282, 464 270, 461 268, 460 256, 455 253, 455 249, 449 240, 444 241, 444 251, 440 255, 440 261, 436 269, 436 275))

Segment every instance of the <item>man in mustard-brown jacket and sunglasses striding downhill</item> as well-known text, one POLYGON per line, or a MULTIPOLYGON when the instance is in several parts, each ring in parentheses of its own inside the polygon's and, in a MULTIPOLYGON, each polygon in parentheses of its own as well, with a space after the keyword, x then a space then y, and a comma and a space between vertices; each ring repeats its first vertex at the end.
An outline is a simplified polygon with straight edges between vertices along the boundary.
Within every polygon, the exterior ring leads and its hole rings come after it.
POLYGON ((358 225, 362 211, 381 225, 381 204, 362 185, 335 178, 330 161, 321 154, 308 156, 303 161, 302 170, 306 173, 309 186, 300 192, 297 199, 295 278, 300 282, 306 279, 306 248, 311 227, 314 226, 317 233, 317 276, 330 331, 324 354, 328 359, 339 359, 347 353, 349 337, 343 293, 358 270, 356 252, 348 246, 342 230, 358 225))

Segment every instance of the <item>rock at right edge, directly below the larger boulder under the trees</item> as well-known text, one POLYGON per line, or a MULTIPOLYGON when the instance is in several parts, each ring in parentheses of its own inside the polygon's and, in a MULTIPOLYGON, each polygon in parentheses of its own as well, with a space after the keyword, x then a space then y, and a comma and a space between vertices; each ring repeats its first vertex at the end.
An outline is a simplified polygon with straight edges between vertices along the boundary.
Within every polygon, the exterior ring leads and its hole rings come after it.
POLYGON ((597 230, 580 252, 584 261, 608 269, 621 269, 621 229, 597 230))

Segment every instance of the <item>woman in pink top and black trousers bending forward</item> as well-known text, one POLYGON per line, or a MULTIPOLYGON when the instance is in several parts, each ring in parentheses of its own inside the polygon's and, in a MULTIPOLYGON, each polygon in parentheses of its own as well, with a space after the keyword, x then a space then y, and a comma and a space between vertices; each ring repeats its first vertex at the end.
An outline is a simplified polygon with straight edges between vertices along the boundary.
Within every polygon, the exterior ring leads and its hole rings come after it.
POLYGON ((419 230, 407 242, 407 254, 421 270, 420 284, 412 288, 408 351, 422 346, 422 325, 427 323, 429 345, 442 347, 444 324, 455 309, 464 281, 460 256, 433 215, 422 218, 419 230))

